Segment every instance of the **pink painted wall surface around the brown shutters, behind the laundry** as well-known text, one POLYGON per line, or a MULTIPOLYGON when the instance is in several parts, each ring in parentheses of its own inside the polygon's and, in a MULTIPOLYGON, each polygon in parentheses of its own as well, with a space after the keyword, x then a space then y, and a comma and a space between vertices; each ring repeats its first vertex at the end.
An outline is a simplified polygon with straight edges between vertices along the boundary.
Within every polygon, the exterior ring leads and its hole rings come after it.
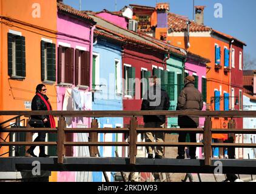
MULTIPOLYGON (((90 41, 90 36, 92 34, 90 30, 91 27, 92 26, 87 22, 72 18, 70 16, 67 16, 58 12, 57 44, 59 45, 60 42, 64 42, 66 44, 70 44, 70 47, 74 48, 74 50, 76 49, 76 46, 81 46, 81 47, 85 47, 87 51, 90 51, 90 44, 92 44, 92 42, 90 41)), ((58 49, 58 46, 56 46, 56 49, 58 49)), ((56 57, 56 59, 57 59, 56 64, 58 64, 58 57, 56 57)), ((75 57, 74 57, 73 64, 75 64, 75 57)), ((92 65, 92 59, 90 62, 90 67, 91 65, 92 65)), ((56 73, 56 75, 58 75, 58 73, 56 73)), ((74 79, 75 79, 75 75, 74 75, 74 79)), ((69 90, 72 91, 73 87, 75 87, 75 85, 72 85, 71 87, 69 87, 69 90)), ((89 89, 87 90, 79 89, 79 91, 88 92, 90 91, 91 87, 92 85, 90 85, 89 89)), ((62 110, 64 96, 67 89, 68 87, 62 87, 61 85, 58 85, 56 88, 57 94, 58 94, 57 96, 58 110, 62 110)), ((84 103, 90 104, 91 102, 87 101, 84 103)), ((77 124, 86 124, 87 127, 90 127, 90 119, 89 118, 83 118, 83 119, 73 118, 72 121, 69 122, 69 124, 71 124, 70 127, 71 126, 76 127, 77 124)), ((73 141, 76 141, 76 140, 77 140, 77 136, 74 134, 73 141)), ((76 149, 75 147, 73 147, 73 156, 75 155, 76 155, 76 149)), ((75 180, 76 180, 76 172, 58 172, 58 182, 75 181, 75 180)))

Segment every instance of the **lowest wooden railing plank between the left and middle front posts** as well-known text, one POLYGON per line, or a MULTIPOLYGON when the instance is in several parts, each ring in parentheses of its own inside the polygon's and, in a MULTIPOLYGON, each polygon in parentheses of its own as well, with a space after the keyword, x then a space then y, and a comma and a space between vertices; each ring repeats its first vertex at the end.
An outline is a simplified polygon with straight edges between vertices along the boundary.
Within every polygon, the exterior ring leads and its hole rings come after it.
POLYGON ((129 146, 129 142, 64 142, 65 146, 129 146))

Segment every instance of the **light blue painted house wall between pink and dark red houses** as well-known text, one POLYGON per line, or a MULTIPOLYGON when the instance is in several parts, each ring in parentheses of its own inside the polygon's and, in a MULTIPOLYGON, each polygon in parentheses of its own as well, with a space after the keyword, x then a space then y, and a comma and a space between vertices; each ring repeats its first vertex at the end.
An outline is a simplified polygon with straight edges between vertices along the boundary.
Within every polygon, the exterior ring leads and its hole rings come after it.
MULTIPOLYGON (((121 45, 113 44, 106 41, 106 39, 98 38, 97 44, 93 45, 93 54, 98 56, 99 60, 99 84, 96 86, 94 99, 92 102, 93 110, 123 110, 122 95, 116 91, 115 79, 115 59, 120 61, 120 80, 118 82, 120 89, 123 82, 122 75, 122 58, 121 45)), ((96 72, 97 73, 97 72, 96 72)), ((123 127, 123 118, 98 118, 99 127, 123 127)), ((99 141, 123 141, 123 135, 112 133, 100 133, 98 135, 99 141)), ((115 150, 122 156, 121 147, 99 147, 99 153, 102 157, 115 157, 115 150)), ((113 181, 113 176, 107 172, 109 180, 113 181)), ((105 181, 102 172, 93 172, 93 181, 105 181)))

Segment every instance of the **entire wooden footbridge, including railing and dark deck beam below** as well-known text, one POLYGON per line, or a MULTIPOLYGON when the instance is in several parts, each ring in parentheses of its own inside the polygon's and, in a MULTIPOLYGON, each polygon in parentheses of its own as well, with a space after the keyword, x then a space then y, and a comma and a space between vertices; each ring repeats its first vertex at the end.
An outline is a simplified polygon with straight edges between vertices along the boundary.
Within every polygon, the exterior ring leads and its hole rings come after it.
POLYGON ((175 172, 175 173, 214 173, 214 169, 221 164, 223 173, 256 174, 256 161, 254 159, 213 159, 212 147, 227 147, 229 158, 234 158, 235 147, 255 148, 256 144, 235 144, 235 134, 256 134, 256 129, 235 129, 234 118, 256 117, 255 111, 0 111, 0 116, 10 116, 10 119, 0 124, 2 132, 25 132, 27 140, 24 142, 0 142, 2 146, 57 146, 57 156, 50 158, 32 157, 0 157, 0 172, 15 172, 32 170, 32 162, 39 161, 41 170, 49 171, 99 171, 99 172, 175 172), (58 118, 56 129, 48 128, 8 128, 7 122, 12 119, 21 121, 31 115, 53 115, 58 118), (143 115, 178 115, 199 116, 205 118, 204 129, 177 129, 177 128, 141 128, 138 127, 137 118, 143 115), (11 118, 15 116, 15 118, 11 118), (66 128, 65 117, 92 118, 90 128, 66 128), (130 118, 127 128, 98 128, 97 118, 126 117, 130 118), (212 129, 212 118, 229 118, 228 129, 212 129), (146 132, 164 133, 203 133, 203 142, 137 142, 138 133, 146 132), (56 142, 32 142, 32 133, 50 132, 58 134, 56 142), (67 133, 89 133, 89 142, 66 141, 67 133), (98 142, 98 133, 126 133, 127 142, 98 142), (212 133, 228 133, 228 143, 212 142, 212 133), (204 159, 147 159, 138 158, 138 146, 195 146, 204 148, 204 159), (67 146, 89 146, 90 157, 78 158, 65 156, 67 146), (104 158, 96 157, 97 146, 126 146, 129 147, 129 157, 104 158))

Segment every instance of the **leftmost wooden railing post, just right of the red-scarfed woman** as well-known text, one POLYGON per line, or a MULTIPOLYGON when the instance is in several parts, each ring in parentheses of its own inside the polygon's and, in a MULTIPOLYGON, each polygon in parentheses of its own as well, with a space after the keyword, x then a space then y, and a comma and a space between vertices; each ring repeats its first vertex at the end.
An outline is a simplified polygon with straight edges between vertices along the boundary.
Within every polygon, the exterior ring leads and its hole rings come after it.
POLYGON ((58 163, 63 164, 64 162, 64 155, 66 153, 64 141, 65 141, 65 132, 64 128, 66 127, 66 121, 64 117, 60 117, 58 121, 58 163))

